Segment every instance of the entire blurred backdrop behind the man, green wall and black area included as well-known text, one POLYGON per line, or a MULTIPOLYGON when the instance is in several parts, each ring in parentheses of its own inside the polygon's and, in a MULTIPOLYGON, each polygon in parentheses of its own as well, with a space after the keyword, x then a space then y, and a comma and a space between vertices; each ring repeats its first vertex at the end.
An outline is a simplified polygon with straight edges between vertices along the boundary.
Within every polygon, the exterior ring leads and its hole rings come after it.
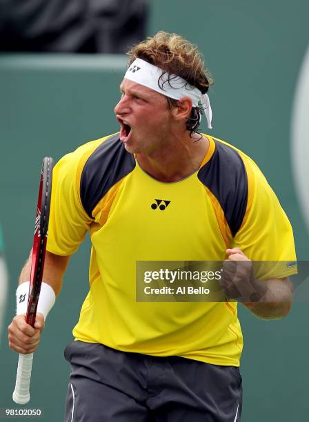
MULTIPOLYGON (((112 109, 123 54, 158 30, 197 43, 215 79, 209 132, 260 166, 308 260, 309 3, 307 0, 0 0, 0 408, 18 356, 8 349, 17 278, 32 244, 41 159, 118 130, 112 109), (2 237, 1 237, 2 239, 2 237)), ((202 129, 206 130, 203 121, 202 129)), ((89 241, 72 257, 34 357, 31 401, 44 422, 63 420, 69 366, 63 349, 88 292, 89 241), (74 296, 72 297, 72 292, 74 296)), ((305 422, 309 401, 308 301, 286 319, 261 321, 239 305, 243 422, 305 422)), ((207 387, 207 386, 206 386, 207 387)))

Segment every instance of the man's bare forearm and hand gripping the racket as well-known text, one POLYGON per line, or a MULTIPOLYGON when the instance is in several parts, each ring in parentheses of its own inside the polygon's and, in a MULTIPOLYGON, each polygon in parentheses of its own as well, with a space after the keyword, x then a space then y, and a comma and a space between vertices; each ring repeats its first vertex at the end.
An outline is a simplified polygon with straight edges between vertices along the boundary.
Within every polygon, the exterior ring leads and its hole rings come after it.
MULTIPOLYGON (((70 256, 60 256, 46 251, 43 282, 49 284, 56 296, 61 291, 63 274, 66 272, 70 256)), ((32 261, 32 250, 30 256, 21 270, 19 284, 30 280, 30 270, 32 261)), ((25 314, 14 316, 8 326, 9 347, 15 352, 28 354, 37 350, 41 331, 44 328, 43 314, 38 313, 34 328, 26 323, 25 314)))

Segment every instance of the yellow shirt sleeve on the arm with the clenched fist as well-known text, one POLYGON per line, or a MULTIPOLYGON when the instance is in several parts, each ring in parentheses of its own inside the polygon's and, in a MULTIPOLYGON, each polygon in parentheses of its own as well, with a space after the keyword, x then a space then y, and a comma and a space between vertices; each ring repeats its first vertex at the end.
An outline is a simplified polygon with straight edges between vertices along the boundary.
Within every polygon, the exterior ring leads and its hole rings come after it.
POLYGON ((255 277, 259 279, 296 274, 290 221, 259 168, 251 163, 247 165, 251 166, 247 211, 233 247, 240 248, 249 259, 257 261, 255 277))

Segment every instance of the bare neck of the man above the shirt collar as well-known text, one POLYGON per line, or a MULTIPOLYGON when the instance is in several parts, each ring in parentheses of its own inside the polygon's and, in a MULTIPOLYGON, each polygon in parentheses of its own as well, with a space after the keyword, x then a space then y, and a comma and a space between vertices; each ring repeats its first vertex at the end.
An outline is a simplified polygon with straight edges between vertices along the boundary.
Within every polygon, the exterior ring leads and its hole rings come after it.
POLYGON ((199 134, 173 137, 163 148, 136 155, 140 167, 166 183, 179 181, 197 171, 208 151, 209 141, 199 134))

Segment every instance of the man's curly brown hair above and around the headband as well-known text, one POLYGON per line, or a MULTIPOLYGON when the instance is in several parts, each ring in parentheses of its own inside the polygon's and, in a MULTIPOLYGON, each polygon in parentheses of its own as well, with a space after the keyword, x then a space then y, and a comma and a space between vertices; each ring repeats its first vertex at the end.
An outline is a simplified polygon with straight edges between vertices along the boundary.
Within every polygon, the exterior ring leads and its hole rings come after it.
MULTIPOLYGON (((143 59, 148 63, 161 68, 164 73, 159 79, 159 85, 172 81, 172 74, 185 79, 190 85, 199 88, 202 94, 214 83, 208 70, 204 67, 204 60, 197 46, 190 43, 181 35, 159 31, 154 37, 148 37, 138 43, 128 52, 128 66, 135 59, 143 59), (168 77, 166 77, 166 74, 168 77), (170 75, 170 77, 169 77, 170 75)), ((168 106, 177 106, 177 100, 168 99, 168 106)), ((201 108, 193 107, 187 121, 187 129, 196 132, 201 120, 201 108)))

